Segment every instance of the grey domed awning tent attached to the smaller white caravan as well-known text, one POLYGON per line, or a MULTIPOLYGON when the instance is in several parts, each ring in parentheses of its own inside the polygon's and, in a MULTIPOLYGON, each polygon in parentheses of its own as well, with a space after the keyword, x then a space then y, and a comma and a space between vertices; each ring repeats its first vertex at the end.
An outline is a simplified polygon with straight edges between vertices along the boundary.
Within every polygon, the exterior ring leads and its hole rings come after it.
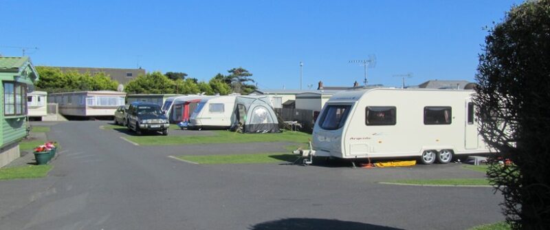
POLYGON ((268 96, 236 96, 232 129, 243 133, 281 132, 268 96))

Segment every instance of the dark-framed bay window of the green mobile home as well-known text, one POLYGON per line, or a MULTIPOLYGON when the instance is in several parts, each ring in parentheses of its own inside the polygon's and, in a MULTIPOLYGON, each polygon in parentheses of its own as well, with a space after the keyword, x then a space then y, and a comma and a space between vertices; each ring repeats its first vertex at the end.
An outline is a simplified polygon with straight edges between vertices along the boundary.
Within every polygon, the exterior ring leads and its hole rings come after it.
POLYGON ((16 82, 4 82, 4 115, 27 114, 27 85, 16 82))

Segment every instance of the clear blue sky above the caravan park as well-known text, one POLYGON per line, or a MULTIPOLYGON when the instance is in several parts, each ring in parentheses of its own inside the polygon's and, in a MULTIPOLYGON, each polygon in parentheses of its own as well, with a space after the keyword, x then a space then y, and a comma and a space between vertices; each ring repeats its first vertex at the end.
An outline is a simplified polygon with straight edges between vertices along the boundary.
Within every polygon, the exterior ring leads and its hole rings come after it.
POLYGON ((186 72, 208 81, 232 67, 260 88, 362 83, 350 60, 375 54, 369 84, 474 81, 492 22, 513 0, 27 1, 0 0, 0 54, 34 65, 186 72))

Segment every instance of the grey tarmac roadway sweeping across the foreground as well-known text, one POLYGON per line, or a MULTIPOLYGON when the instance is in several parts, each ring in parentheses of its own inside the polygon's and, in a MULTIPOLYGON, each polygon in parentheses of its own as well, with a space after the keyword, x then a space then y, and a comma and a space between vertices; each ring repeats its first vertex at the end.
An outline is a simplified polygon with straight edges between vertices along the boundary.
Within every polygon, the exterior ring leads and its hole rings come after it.
POLYGON ((63 151, 50 175, 0 181, 0 229, 467 229, 503 220, 503 198, 492 188, 377 183, 483 177, 460 165, 193 165, 167 156, 284 150, 135 146, 122 132, 99 129, 106 124, 52 126, 48 138, 63 151))

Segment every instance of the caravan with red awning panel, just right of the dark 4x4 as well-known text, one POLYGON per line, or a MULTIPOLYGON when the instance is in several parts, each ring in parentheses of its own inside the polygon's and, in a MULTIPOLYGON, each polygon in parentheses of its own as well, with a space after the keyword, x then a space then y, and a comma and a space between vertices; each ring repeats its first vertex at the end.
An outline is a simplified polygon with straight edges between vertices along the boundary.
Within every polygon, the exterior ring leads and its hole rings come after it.
POLYGON ((189 116, 195 111, 199 102, 204 98, 213 97, 202 95, 173 96, 166 99, 162 110, 166 112, 170 123, 188 122, 189 116))

